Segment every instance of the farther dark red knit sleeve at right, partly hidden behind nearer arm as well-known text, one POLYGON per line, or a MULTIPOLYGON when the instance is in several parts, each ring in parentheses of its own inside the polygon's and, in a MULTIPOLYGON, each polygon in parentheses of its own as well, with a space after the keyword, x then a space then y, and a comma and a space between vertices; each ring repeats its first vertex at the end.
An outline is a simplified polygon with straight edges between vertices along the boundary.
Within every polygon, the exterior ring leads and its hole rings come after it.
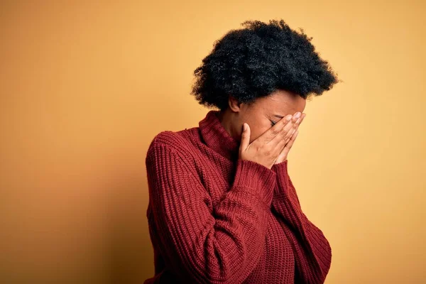
POLYGON ((295 247, 298 276, 302 283, 324 283, 332 261, 329 241, 302 212, 295 187, 288 175, 288 160, 273 165, 272 170, 277 174, 277 182, 271 210, 278 215, 285 234, 295 247))

